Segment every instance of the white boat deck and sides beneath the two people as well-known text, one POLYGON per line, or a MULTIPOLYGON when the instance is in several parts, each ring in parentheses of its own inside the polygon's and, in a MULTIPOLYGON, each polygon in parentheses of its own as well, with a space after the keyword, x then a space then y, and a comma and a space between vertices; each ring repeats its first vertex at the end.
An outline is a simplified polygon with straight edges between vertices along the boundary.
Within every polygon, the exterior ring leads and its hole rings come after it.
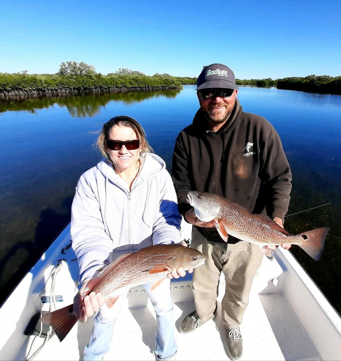
MULTIPOLYGON (((183 233, 188 235, 188 225, 184 227, 183 233)), ((0 331, 0 360, 25 360, 27 354, 31 356, 43 343, 42 338, 36 337, 31 347, 34 336, 23 335, 23 330, 31 316, 40 311, 40 292, 54 262, 60 258, 66 259, 68 266, 63 266, 61 276, 56 278, 55 295, 64 292, 64 302, 57 303, 57 307, 72 303, 72 279, 77 277, 77 262, 72 261, 71 248, 63 255, 60 253, 69 243, 69 229, 66 228, 55 241, 56 247, 44 254, 1 307, 0 317, 5 327, 0 331), (65 293, 66 288, 69 293, 65 293)), ((252 284, 249 306, 241 325, 244 351, 240 360, 340 360, 340 316, 289 251, 277 249, 275 257, 274 262, 264 257, 252 284)), ((182 335, 178 332, 180 322, 194 310, 191 279, 171 282, 178 361, 229 360, 220 317, 224 288, 221 278, 216 319, 182 335)), ((48 305, 44 304, 44 309, 48 305)), ((93 317, 86 323, 77 323, 61 343, 53 336, 35 360, 82 360, 92 322, 93 317)), ((155 312, 143 288, 131 289, 115 322, 111 351, 103 360, 155 360, 155 328, 155 312)))

